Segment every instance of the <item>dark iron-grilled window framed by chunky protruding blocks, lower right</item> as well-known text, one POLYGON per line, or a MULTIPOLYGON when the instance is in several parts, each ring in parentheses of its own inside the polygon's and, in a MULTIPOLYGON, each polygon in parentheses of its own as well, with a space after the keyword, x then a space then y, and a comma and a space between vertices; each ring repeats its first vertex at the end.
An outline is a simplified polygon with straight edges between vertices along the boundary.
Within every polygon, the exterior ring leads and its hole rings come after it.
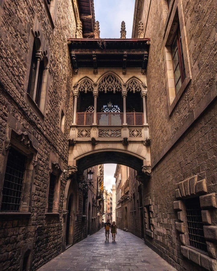
POLYGON ((200 250, 207 251, 206 241, 203 233, 200 199, 192 198, 186 200, 184 203, 186 206, 190 245, 200 250))

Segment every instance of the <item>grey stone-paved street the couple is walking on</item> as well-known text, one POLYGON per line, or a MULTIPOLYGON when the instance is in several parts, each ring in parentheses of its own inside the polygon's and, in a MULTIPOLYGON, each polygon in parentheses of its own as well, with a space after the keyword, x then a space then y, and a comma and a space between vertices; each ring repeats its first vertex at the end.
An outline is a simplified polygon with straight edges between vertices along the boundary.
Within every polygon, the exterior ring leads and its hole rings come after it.
POLYGON ((55 259, 42 266, 40 271, 60 270, 176 270, 144 241, 130 232, 118 229, 115 242, 112 235, 105 241, 104 229, 75 244, 55 259))

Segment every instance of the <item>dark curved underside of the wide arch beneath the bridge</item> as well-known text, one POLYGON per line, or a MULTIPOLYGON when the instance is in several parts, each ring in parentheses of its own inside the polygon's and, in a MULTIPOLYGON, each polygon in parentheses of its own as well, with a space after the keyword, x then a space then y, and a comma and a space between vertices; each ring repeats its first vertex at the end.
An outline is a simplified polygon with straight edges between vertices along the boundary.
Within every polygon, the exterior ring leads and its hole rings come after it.
POLYGON ((80 173, 88 167, 93 167, 98 164, 121 164, 131 167, 140 173, 143 166, 143 160, 131 154, 117 151, 92 153, 77 160, 77 168, 80 173))

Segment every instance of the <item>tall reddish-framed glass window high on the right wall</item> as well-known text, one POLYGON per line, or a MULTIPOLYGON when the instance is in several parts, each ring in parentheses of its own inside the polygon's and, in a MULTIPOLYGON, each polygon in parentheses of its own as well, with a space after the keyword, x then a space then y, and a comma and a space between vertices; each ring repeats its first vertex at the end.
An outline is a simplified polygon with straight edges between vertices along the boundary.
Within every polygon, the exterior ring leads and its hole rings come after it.
POLYGON ((172 50, 175 89, 176 89, 176 93, 177 93, 181 87, 181 84, 183 83, 183 81, 186 77, 185 67, 184 67, 183 50, 182 50, 181 33, 180 33, 179 27, 176 32, 175 38, 173 40, 171 50, 172 50))

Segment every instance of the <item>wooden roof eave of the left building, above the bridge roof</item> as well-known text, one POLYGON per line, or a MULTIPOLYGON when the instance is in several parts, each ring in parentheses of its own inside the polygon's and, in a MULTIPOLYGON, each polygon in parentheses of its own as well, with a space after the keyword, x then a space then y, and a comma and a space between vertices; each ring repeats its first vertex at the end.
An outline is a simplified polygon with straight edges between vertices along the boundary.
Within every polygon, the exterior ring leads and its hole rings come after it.
POLYGON ((79 0, 79 14, 82 22, 83 37, 93 38, 95 13, 93 0, 79 0))

